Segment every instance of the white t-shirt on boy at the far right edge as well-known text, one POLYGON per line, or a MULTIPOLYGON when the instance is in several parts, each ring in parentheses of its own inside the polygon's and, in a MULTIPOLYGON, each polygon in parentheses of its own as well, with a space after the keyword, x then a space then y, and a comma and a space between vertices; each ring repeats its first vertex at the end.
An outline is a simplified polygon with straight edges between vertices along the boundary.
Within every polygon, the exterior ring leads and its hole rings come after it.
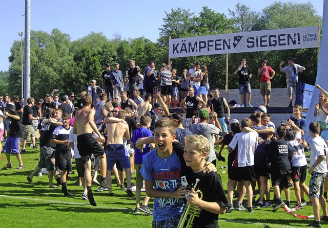
POLYGON ((316 168, 314 168, 315 172, 318 173, 328 172, 327 164, 326 164, 326 159, 327 159, 326 152, 327 152, 327 145, 324 142, 324 140, 320 136, 313 138, 311 142, 310 167, 312 167, 313 164, 317 161, 318 156, 324 155, 323 161, 316 168))

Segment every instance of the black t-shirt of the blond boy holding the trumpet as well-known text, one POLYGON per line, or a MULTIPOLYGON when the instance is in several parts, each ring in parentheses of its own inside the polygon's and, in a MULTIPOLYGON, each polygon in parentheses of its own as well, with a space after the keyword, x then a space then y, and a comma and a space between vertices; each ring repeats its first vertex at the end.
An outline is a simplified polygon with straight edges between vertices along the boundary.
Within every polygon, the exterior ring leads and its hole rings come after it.
MULTIPOLYGON (((185 172, 181 170, 181 178, 186 176, 188 186, 191 189, 196 183, 196 178, 199 182, 195 191, 200 190, 203 194, 202 200, 207 202, 216 202, 220 207, 228 207, 228 199, 223 190, 222 180, 217 172, 203 173, 202 171, 194 173, 191 167, 187 167, 185 172)), ((194 218, 193 227, 216 228, 218 225, 218 214, 201 210, 199 217, 194 218)))

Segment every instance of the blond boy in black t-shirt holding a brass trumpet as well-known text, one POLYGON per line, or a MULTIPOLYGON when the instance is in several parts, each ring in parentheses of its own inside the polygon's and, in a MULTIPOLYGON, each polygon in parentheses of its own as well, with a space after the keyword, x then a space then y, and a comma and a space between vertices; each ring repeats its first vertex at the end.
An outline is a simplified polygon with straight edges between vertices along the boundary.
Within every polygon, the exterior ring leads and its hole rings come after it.
POLYGON ((185 177, 181 176, 181 180, 187 180, 186 184, 193 186, 187 196, 190 207, 201 209, 199 217, 194 218, 193 227, 219 227, 218 215, 226 212, 228 200, 220 175, 217 172, 203 173, 210 143, 204 136, 196 134, 188 135, 185 143, 183 158, 187 168, 185 172, 182 171, 185 177), (199 179, 199 183, 194 189, 196 179, 199 179), (199 198, 196 190, 202 192, 202 198, 199 198))

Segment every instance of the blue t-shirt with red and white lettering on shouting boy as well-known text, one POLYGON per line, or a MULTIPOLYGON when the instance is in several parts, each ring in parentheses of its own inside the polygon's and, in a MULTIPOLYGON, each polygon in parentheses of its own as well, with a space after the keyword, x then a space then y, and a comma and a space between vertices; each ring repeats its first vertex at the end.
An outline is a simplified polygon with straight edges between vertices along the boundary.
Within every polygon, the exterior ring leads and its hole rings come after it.
MULTIPOLYGON (((144 156, 140 173, 146 180, 154 181, 155 190, 173 192, 180 185, 180 158, 174 151, 171 156, 160 158, 156 151, 144 156)), ((153 220, 162 221, 178 215, 182 205, 183 199, 154 198, 153 220)))

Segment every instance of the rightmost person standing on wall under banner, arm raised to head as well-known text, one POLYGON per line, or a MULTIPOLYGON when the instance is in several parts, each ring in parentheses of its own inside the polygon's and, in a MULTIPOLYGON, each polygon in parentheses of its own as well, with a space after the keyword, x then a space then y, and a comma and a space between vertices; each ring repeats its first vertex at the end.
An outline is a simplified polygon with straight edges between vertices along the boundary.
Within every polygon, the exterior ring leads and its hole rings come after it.
POLYGON ((294 58, 289 57, 288 58, 288 65, 285 67, 281 67, 285 61, 281 61, 279 64, 279 70, 280 72, 286 73, 286 82, 287 82, 287 93, 286 95, 288 96, 289 100, 289 106, 288 107, 293 107, 293 90, 296 92, 296 82, 298 81, 298 73, 302 73, 305 71, 305 67, 301 66, 299 64, 294 63, 294 58))

